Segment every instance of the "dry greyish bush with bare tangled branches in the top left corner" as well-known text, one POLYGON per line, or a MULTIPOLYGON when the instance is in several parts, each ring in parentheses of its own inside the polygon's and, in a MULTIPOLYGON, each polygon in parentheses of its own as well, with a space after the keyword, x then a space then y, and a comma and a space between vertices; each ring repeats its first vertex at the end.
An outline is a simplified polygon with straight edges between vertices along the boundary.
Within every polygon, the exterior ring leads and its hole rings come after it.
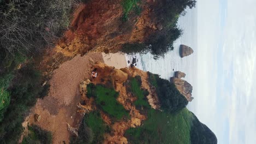
POLYGON ((1 51, 23 53, 52 45, 69 26, 72 3, 72 0, 2 1, 1 51))

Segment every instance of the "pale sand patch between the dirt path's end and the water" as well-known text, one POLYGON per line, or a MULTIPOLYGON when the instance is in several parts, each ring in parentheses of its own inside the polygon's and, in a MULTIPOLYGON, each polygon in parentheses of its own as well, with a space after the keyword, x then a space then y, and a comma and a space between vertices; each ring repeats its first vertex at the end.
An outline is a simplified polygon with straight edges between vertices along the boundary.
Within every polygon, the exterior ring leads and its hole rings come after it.
POLYGON ((116 69, 127 67, 125 55, 122 53, 102 53, 104 63, 116 69))

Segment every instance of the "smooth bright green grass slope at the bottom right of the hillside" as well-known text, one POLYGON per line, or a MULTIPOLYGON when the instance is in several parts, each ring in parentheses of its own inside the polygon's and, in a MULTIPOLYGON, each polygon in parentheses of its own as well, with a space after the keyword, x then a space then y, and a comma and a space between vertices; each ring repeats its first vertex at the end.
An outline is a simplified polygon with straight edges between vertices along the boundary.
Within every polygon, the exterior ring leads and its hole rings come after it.
POLYGON ((190 143, 191 113, 187 108, 176 114, 150 109, 141 127, 130 128, 125 136, 131 143, 190 143))

